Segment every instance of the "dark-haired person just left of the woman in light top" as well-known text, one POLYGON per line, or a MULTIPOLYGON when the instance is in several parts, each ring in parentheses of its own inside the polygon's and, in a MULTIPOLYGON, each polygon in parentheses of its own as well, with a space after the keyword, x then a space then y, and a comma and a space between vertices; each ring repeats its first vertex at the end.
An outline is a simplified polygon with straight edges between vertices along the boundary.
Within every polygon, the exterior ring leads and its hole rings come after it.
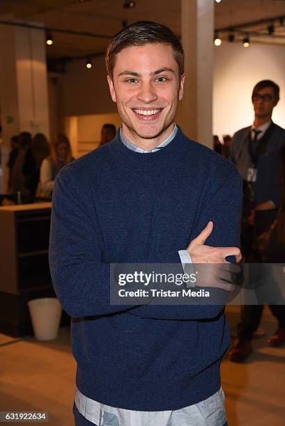
POLYGON ((37 133, 33 136, 31 153, 35 160, 35 167, 31 175, 31 195, 34 197, 36 195, 38 181, 40 179, 40 166, 42 165, 43 160, 50 154, 49 142, 43 133, 37 133))

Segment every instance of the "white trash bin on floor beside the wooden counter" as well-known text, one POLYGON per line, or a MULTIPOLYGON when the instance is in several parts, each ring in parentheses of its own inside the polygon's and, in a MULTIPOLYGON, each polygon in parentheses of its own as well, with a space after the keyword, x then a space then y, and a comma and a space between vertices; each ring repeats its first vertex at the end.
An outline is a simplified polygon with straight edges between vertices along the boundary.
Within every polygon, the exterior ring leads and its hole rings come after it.
POLYGON ((38 340, 53 340, 59 332, 61 303, 56 297, 28 301, 33 332, 38 340))

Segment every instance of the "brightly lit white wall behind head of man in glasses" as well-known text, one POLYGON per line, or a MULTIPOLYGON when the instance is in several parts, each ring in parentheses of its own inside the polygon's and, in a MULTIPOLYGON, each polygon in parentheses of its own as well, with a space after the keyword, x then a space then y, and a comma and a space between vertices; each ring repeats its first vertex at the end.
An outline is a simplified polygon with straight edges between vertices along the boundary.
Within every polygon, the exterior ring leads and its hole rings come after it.
POLYGON ((270 79, 280 87, 280 101, 273 121, 285 127, 285 47, 223 42, 215 47, 213 90, 213 134, 233 134, 251 125, 252 89, 270 79))

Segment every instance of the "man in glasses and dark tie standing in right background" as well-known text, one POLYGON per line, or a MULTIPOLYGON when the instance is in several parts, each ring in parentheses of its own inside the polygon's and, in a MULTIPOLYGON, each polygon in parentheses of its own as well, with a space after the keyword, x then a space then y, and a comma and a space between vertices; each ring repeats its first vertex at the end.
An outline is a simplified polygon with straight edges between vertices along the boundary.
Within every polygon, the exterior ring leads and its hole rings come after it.
MULTIPOLYGON (((252 92, 254 123, 233 135, 230 159, 238 167, 244 182, 242 214, 242 251, 245 262, 260 262, 254 251, 254 216, 268 211, 274 216, 280 203, 279 150, 285 145, 285 130, 272 122, 272 111, 279 101, 279 86, 271 80, 259 81, 252 92)), ((255 223, 256 224, 256 223, 255 223)), ((277 318, 279 328, 268 339, 270 346, 285 342, 285 309, 283 305, 269 305, 277 318)), ((245 361, 252 353, 252 336, 258 329, 263 305, 242 306, 238 324, 238 341, 229 352, 234 362, 245 361)))

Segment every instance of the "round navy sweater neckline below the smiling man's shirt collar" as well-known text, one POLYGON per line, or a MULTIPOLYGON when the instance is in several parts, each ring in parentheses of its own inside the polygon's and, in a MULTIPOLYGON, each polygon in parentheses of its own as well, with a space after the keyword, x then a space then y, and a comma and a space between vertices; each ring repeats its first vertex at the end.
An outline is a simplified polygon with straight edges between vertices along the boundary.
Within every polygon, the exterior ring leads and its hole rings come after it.
POLYGON ((163 168, 173 164, 176 157, 183 154, 187 147, 185 136, 180 127, 177 126, 177 133, 174 139, 162 149, 156 152, 135 152, 127 148, 121 141, 119 132, 116 138, 109 144, 111 155, 116 161, 126 168, 140 169, 143 168, 163 168))

